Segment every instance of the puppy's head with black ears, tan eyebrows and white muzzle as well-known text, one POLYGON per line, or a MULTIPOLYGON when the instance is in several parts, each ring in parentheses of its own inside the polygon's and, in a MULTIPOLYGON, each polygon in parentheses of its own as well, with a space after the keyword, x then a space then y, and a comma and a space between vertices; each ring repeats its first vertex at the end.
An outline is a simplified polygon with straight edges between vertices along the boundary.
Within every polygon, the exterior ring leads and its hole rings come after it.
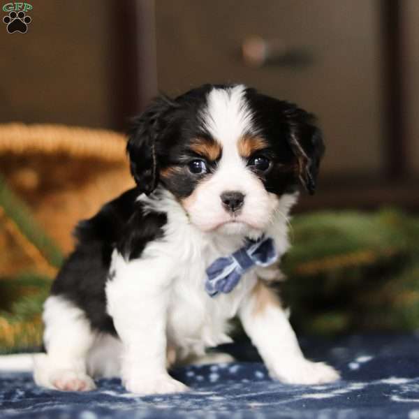
POLYGON ((267 228, 281 196, 314 193, 324 146, 314 117, 242 85, 204 85, 158 98, 135 120, 127 146, 139 189, 158 184, 205 231, 267 228))

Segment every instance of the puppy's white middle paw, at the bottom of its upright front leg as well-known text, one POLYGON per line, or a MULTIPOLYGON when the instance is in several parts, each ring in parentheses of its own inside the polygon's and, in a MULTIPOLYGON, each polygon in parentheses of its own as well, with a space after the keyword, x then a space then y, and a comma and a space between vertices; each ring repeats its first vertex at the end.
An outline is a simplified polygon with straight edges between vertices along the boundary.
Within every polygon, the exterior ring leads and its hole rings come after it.
POLYGON ((184 383, 175 380, 168 374, 154 378, 145 378, 142 376, 132 377, 124 380, 124 386, 129 392, 138 395, 164 395, 175 392, 184 392, 189 390, 184 383))

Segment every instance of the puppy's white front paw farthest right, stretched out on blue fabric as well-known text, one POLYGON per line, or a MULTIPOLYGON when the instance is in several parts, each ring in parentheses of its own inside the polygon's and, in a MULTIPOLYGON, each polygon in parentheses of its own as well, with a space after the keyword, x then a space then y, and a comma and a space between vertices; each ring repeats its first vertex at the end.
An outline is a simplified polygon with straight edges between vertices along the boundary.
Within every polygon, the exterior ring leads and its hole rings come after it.
POLYGON ((270 376, 288 384, 332 383, 340 378, 335 368, 323 362, 311 362, 304 358, 270 368, 270 376))

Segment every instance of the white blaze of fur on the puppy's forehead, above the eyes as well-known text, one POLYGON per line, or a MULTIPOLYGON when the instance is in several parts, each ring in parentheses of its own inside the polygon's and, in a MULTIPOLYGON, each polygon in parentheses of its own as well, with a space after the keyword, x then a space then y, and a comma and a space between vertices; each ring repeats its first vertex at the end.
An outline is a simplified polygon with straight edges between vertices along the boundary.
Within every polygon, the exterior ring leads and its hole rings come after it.
POLYGON ((205 128, 223 148, 235 146, 245 133, 253 132, 252 114, 239 84, 228 89, 212 89, 203 112, 205 128))

